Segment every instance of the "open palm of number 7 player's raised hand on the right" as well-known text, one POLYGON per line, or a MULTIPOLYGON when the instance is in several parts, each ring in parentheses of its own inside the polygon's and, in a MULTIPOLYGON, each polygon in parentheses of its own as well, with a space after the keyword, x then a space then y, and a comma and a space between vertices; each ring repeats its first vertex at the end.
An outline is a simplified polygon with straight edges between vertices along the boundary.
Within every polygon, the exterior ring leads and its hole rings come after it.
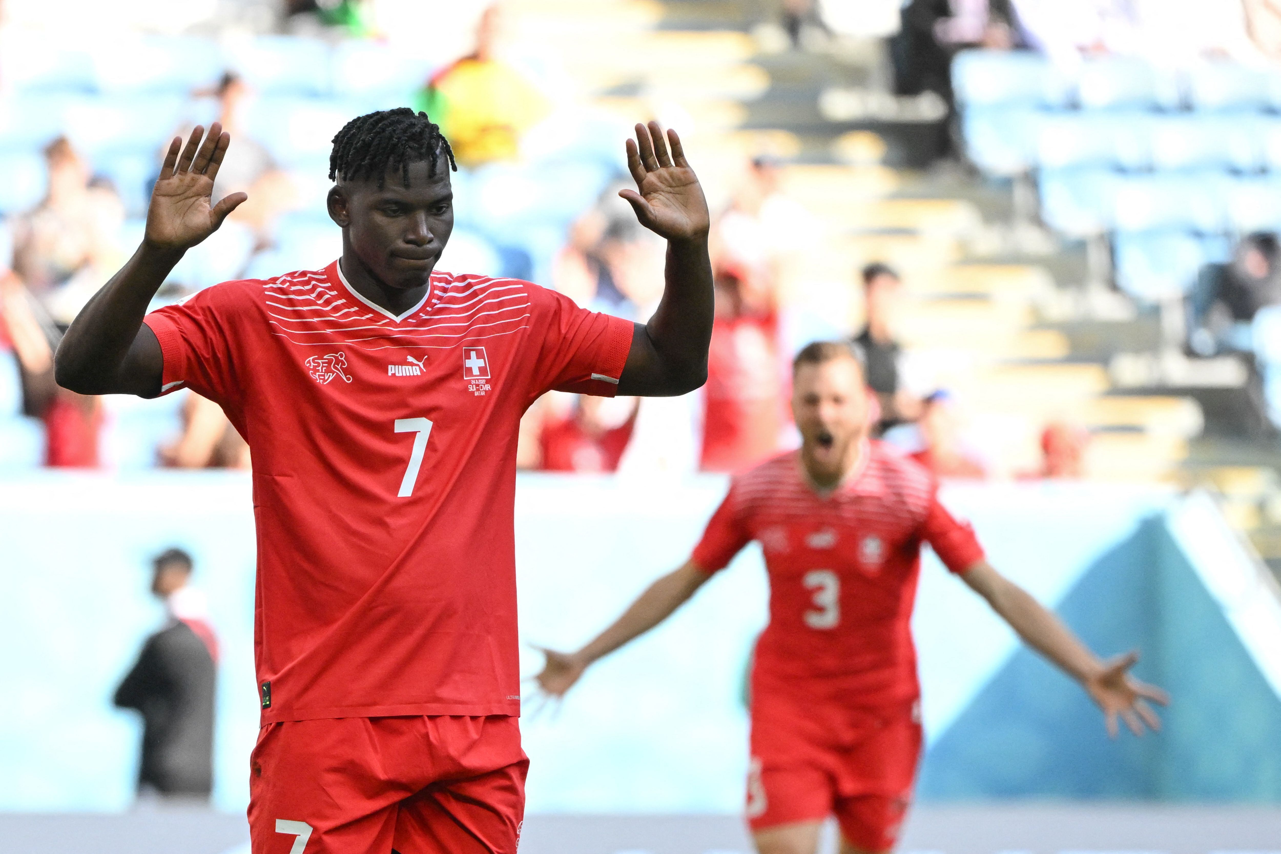
POLYGON ((685 163, 676 132, 669 129, 664 140, 657 122, 648 127, 637 124, 637 138, 628 140, 626 147, 628 169, 637 189, 621 189, 619 195, 632 202, 640 224, 669 241, 706 237, 711 227, 707 200, 698 177, 685 163))

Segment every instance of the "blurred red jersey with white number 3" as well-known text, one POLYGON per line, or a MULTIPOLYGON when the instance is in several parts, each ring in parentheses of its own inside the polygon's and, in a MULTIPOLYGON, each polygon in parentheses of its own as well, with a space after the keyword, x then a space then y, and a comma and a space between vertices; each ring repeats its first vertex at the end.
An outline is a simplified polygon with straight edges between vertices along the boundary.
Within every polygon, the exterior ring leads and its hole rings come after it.
POLYGON ((770 577, 753 695, 857 705, 920 694, 910 621, 921 544, 953 572, 983 558, 974 530, 939 503, 934 476, 880 442, 828 494, 811 485, 798 451, 738 475, 692 560, 714 572, 752 540, 770 577))

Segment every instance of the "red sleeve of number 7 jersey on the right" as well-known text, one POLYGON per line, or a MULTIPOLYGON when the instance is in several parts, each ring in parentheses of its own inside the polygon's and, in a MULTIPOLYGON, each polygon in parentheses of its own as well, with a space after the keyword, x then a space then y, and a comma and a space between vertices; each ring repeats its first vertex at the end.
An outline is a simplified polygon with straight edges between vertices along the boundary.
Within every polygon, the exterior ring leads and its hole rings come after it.
POLYGON ((614 397, 635 324, 580 309, 537 284, 529 286, 529 301, 539 343, 534 397, 551 389, 614 397))

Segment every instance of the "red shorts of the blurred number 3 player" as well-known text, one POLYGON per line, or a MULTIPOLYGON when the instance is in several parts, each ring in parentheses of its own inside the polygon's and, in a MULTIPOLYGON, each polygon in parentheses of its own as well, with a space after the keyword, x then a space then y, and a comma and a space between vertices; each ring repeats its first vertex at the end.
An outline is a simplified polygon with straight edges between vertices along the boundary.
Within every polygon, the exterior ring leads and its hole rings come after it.
POLYGON ((921 755, 920 705, 860 709, 760 700, 752 705, 747 781, 752 830, 835 816, 851 845, 894 848, 921 755))

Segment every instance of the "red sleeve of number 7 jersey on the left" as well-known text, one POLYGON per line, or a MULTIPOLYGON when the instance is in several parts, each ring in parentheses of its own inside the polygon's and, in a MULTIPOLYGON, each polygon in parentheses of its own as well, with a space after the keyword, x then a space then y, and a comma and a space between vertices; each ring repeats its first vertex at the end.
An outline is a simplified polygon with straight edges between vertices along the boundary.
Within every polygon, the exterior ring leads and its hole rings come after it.
POLYGON ((215 284, 142 319, 164 355, 161 394, 190 388, 223 408, 238 408, 242 383, 233 343, 245 309, 238 297, 234 283, 215 284))

